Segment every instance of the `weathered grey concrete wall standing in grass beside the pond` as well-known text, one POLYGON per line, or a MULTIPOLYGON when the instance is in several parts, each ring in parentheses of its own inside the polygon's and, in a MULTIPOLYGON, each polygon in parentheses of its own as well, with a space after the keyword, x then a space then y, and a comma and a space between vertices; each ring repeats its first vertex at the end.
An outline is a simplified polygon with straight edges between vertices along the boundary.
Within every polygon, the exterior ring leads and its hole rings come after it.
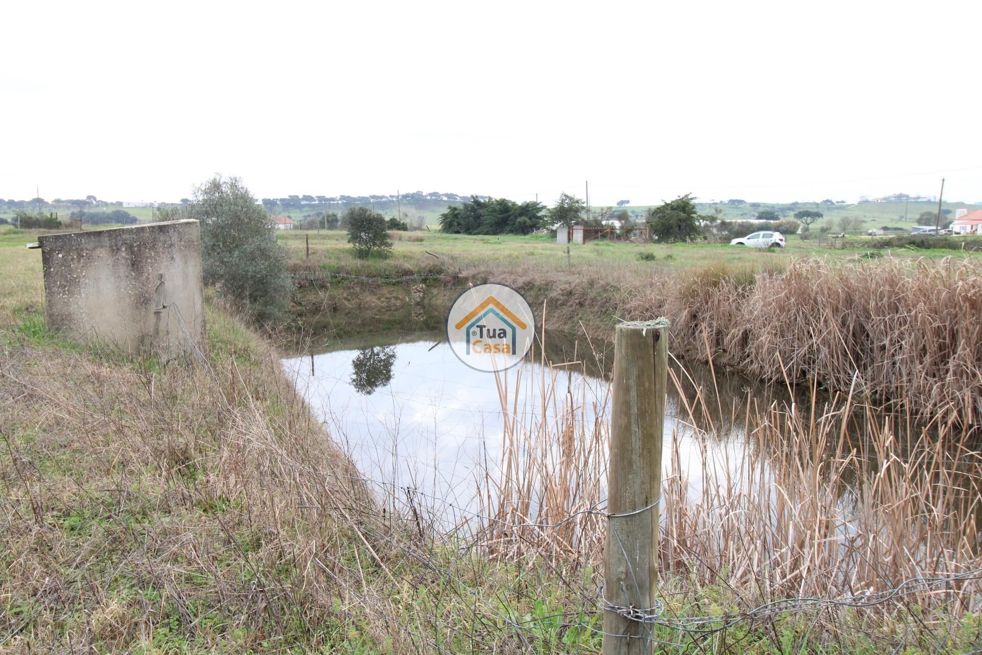
POLYGON ((38 237, 48 326, 129 352, 204 352, 197 221, 38 237))

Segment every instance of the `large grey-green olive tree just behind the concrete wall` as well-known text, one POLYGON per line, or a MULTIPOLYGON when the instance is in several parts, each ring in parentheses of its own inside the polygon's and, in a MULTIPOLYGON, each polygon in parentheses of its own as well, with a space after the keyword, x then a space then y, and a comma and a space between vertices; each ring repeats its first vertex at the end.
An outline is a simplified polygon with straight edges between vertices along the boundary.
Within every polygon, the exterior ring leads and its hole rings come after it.
POLYGON ((205 182, 194 190, 190 215, 201 225, 204 283, 253 320, 281 319, 293 293, 287 252, 242 180, 216 175, 205 182))

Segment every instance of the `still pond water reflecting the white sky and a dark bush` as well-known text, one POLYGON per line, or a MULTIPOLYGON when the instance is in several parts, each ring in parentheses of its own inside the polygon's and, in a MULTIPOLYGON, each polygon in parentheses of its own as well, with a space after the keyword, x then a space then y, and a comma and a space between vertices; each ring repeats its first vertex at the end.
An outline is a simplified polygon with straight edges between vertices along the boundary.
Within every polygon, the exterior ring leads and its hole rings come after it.
MULTIPOLYGON (((548 425, 564 407, 573 407, 586 424, 608 420, 614 354, 607 344, 547 333, 545 357, 533 352, 517 368, 493 374, 464 365, 441 335, 369 339, 287 357, 283 365, 361 474, 380 485, 473 511, 477 494, 487 493, 487 481, 493 487, 500 477, 506 421, 548 425)), ((704 464, 719 473, 719 466, 740 461, 741 416, 751 384, 701 367, 675 364, 673 370, 688 400, 680 401, 670 377, 665 474, 683 472, 697 494, 704 464), (712 402, 690 409, 700 388, 712 402), (693 438, 695 429, 713 431, 708 451, 705 439, 693 438), (669 452, 673 442, 676 458, 669 452)), ((605 471, 596 474, 606 479, 605 471)))

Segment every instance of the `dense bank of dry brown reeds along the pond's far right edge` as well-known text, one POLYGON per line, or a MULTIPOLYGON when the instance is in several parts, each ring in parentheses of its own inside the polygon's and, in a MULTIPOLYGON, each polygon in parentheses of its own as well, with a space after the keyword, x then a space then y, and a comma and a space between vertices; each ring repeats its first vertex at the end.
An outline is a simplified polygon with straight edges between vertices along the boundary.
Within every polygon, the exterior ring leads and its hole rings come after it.
POLYGON ((672 321, 676 352, 755 377, 817 379, 918 418, 982 417, 982 263, 801 259, 635 286, 625 319, 672 321))

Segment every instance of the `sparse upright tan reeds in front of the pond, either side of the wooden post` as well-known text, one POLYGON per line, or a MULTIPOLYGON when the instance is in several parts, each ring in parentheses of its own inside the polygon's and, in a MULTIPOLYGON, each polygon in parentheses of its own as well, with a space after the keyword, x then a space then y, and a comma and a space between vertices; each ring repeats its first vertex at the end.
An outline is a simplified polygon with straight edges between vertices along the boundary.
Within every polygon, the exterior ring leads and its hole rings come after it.
MULTIPOLYGON (((609 397, 586 387, 572 394, 565 370, 547 366, 538 381, 551 419, 506 422, 504 477, 484 495, 481 513, 491 520, 481 543, 506 561, 599 570, 609 397)), ((658 557, 667 596, 722 587, 739 612, 982 569, 982 435, 954 409, 918 424, 910 413, 858 405, 855 394, 822 396, 814 382, 801 405, 748 392, 743 407, 723 409, 712 384, 692 393, 683 376, 672 371, 680 419, 663 461, 658 557), (740 423, 742 439, 725 436, 723 424, 740 423)), ((502 411, 513 409, 503 390, 502 411)), ((874 614, 916 606, 933 628, 956 629, 982 609, 980 593, 979 580, 957 581, 874 614)))

